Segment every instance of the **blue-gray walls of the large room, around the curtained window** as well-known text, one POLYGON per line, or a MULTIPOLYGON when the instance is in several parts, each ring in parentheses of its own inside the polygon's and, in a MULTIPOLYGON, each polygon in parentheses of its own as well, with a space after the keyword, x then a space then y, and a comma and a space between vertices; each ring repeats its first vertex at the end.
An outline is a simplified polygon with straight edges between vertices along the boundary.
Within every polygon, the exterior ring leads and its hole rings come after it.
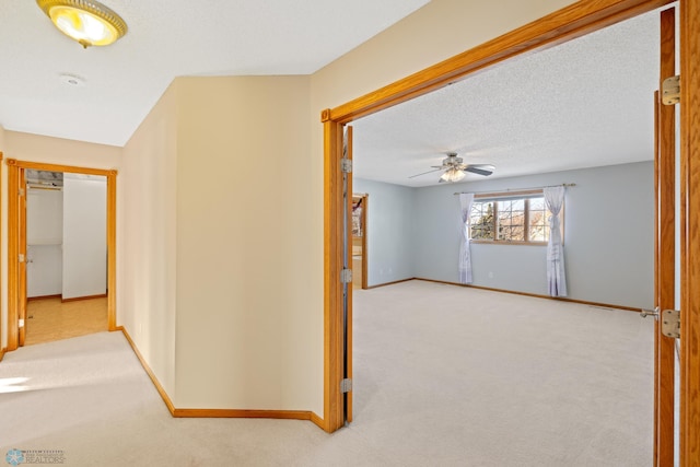
MULTIPOLYGON (((370 194, 369 284, 408 277, 457 282, 456 191, 575 183, 564 205, 569 297, 653 307, 653 163, 643 162, 419 189, 355 179, 355 192, 370 194), (394 272, 400 265, 400 275, 388 279, 389 265, 394 272)), ((545 246, 472 244, 474 284, 546 295, 546 255, 545 246)))

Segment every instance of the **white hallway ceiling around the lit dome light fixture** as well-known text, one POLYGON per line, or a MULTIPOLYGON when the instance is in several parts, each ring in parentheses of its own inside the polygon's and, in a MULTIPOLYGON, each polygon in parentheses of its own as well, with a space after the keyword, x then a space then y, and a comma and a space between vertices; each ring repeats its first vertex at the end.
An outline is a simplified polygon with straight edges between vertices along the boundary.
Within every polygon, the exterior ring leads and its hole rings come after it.
POLYGON ((103 0, 129 32, 83 50, 35 1, 1 0, 0 125, 124 145, 175 77, 313 73, 428 1, 103 0))

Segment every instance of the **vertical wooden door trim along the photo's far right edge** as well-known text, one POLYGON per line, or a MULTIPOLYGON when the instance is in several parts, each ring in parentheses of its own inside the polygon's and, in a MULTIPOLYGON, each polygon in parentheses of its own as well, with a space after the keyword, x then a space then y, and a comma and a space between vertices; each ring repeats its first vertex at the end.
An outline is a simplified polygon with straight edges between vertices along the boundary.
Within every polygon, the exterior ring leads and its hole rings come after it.
POLYGON ((697 466, 700 465, 700 190, 697 189, 700 2, 696 0, 680 0, 680 464, 697 466))

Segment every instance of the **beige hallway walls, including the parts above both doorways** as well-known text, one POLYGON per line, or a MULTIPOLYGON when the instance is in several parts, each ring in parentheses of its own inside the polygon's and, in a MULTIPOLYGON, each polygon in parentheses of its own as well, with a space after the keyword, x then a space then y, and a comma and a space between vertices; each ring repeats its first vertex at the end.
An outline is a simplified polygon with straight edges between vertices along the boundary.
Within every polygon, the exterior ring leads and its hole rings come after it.
POLYGON ((118 322, 176 407, 323 416, 320 110, 569 3, 433 0, 312 77, 177 79, 124 151, 5 157, 120 170, 118 322))

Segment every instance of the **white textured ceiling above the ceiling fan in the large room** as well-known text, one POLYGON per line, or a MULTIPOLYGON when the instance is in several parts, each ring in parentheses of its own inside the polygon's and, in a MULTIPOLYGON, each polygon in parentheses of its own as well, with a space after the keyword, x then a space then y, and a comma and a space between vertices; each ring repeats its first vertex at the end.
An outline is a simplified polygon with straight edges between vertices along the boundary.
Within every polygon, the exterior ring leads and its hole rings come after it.
MULTIPOLYGON (((438 184, 445 153, 491 177, 653 159, 658 14, 515 58, 354 121, 354 176, 438 184)), ((464 182, 481 179, 467 175, 464 182)))

